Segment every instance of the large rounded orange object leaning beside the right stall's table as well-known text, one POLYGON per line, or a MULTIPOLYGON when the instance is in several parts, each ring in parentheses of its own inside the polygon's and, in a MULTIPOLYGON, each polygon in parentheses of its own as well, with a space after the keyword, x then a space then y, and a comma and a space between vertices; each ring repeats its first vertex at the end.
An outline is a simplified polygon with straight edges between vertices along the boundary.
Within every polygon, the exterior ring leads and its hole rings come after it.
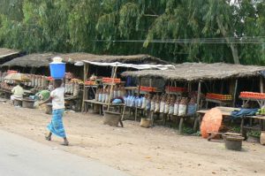
POLYGON ((201 136, 208 138, 208 132, 218 132, 222 125, 222 111, 217 108, 213 108, 206 112, 201 122, 201 136))

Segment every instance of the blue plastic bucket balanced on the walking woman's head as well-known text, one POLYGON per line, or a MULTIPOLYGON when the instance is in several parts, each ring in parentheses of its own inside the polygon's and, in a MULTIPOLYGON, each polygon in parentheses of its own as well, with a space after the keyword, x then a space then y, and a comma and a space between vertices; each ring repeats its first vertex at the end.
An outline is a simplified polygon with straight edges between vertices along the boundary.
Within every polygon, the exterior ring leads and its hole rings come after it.
POLYGON ((64 78, 65 63, 50 63, 49 64, 50 76, 55 80, 64 78))

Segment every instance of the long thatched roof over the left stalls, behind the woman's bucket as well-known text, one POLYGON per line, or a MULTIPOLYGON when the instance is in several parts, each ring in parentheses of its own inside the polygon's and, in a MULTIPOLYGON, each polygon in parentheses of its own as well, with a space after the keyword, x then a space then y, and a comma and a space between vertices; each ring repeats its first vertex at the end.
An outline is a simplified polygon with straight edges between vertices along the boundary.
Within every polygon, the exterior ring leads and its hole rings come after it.
POLYGON ((121 62, 121 63, 139 63, 139 64, 165 64, 166 62, 148 55, 133 55, 133 56, 107 56, 107 55, 93 55, 88 53, 42 53, 42 54, 30 54, 24 57, 19 57, 5 63, 2 66, 22 66, 22 67, 41 67, 48 66, 53 57, 62 57, 64 62, 74 64, 77 61, 96 61, 96 62, 121 62))

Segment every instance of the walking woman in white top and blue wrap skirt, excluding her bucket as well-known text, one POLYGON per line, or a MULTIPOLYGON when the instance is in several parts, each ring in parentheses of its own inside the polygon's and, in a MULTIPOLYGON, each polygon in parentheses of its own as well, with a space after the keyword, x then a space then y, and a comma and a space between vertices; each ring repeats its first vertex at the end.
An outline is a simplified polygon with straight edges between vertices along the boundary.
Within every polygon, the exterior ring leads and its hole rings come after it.
POLYGON ((51 135, 56 134, 59 137, 64 138, 64 143, 62 145, 69 145, 66 138, 63 124, 63 114, 64 114, 64 88, 62 87, 63 80, 54 80, 54 90, 51 91, 49 99, 40 103, 52 103, 52 119, 49 123, 48 129, 49 134, 46 136, 46 140, 51 140, 51 135))

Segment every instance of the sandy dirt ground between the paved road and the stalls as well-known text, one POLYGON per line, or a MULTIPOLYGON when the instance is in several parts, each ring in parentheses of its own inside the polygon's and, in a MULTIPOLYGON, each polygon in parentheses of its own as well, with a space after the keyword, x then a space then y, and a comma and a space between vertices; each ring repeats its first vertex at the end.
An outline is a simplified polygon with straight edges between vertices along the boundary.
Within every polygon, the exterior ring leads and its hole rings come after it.
POLYGON ((64 126, 71 146, 64 147, 57 137, 44 140, 49 120, 43 111, 0 103, 1 129, 132 175, 265 175, 265 146, 260 144, 244 142, 237 152, 224 149, 223 142, 178 135, 163 126, 142 128, 128 120, 124 128, 110 127, 102 125, 101 116, 68 113, 64 126))

